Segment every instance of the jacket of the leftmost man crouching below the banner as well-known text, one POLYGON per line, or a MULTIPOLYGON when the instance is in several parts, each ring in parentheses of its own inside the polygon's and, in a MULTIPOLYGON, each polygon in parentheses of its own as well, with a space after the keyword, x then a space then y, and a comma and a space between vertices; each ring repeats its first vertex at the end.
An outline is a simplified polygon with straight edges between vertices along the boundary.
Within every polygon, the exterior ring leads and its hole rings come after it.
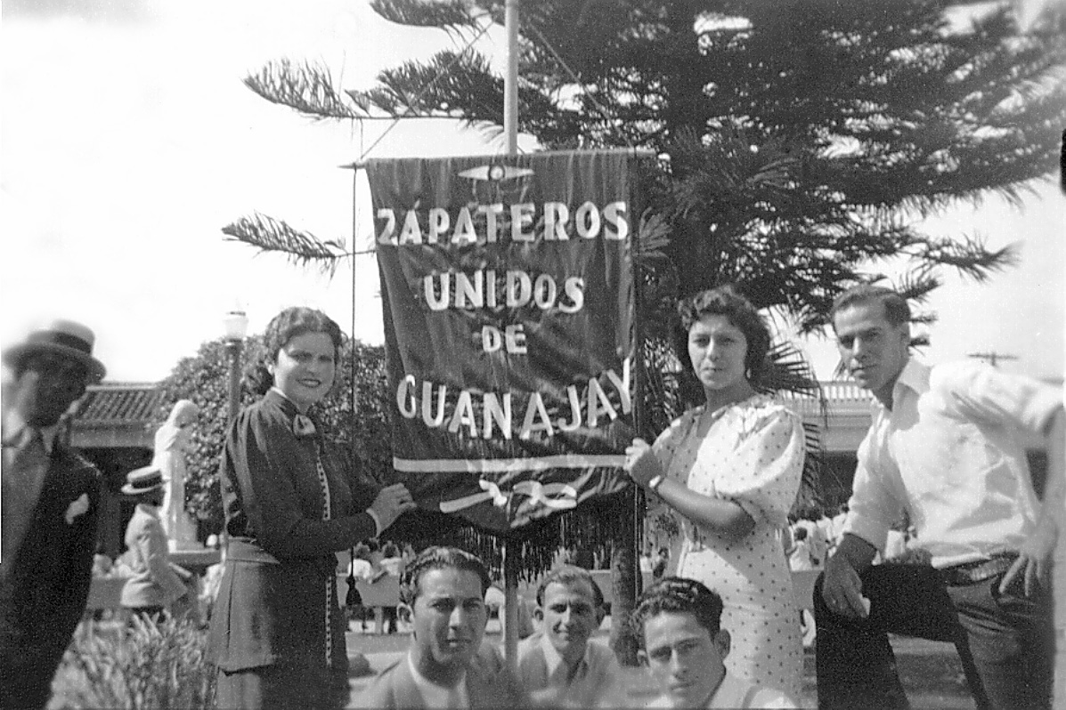
MULTIPOLYGON (((471 708, 529 707, 518 680, 507 671, 503 658, 491 646, 482 645, 467 668, 467 694, 471 708)), ((424 708, 422 694, 415 684, 407 655, 386 666, 362 690, 354 708, 424 708)))

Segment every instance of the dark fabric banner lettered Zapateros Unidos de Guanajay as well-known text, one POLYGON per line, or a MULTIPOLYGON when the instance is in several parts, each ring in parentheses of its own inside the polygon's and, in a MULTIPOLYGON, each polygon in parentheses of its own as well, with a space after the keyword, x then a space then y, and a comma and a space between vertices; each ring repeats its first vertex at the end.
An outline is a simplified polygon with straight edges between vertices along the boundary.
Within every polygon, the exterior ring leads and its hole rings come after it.
POLYGON ((628 484, 630 151, 372 160, 394 466, 504 531, 628 484))

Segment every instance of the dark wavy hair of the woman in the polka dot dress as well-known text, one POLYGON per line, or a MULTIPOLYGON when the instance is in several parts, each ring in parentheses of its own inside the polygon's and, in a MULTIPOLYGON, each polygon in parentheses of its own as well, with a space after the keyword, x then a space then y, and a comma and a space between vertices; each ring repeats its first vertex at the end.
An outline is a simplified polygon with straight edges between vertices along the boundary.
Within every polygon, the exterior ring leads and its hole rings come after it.
POLYGON ((684 371, 692 375, 689 363, 689 331, 693 324, 707 315, 724 315, 729 323, 744 333, 747 352, 744 369, 748 382, 756 384, 766 370, 766 353, 770 352, 770 328, 752 302, 741 296, 731 285, 701 291, 677 304, 678 321, 674 329, 675 347, 681 361, 688 364, 684 371))

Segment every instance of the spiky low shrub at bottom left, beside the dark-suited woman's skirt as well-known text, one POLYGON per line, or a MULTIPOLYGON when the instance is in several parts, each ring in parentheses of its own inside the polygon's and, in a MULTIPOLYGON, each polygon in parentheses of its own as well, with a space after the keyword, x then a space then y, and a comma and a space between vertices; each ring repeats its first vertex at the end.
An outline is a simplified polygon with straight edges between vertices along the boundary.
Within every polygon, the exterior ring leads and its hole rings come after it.
POLYGON ((55 708, 188 710, 214 705, 207 631, 185 620, 75 634, 56 673, 55 708))

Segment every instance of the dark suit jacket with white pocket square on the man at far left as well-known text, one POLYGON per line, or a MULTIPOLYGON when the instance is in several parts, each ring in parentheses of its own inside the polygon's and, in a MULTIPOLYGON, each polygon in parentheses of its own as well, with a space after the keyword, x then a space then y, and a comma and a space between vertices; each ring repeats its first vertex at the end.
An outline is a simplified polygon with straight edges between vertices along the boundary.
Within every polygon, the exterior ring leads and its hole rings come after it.
POLYGON ((100 474, 56 442, 22 544, 0 573, 0 707, 44 707, 85 610, 96 551, 100 474), (67 523, 82 495, 88 510, 67 523))

